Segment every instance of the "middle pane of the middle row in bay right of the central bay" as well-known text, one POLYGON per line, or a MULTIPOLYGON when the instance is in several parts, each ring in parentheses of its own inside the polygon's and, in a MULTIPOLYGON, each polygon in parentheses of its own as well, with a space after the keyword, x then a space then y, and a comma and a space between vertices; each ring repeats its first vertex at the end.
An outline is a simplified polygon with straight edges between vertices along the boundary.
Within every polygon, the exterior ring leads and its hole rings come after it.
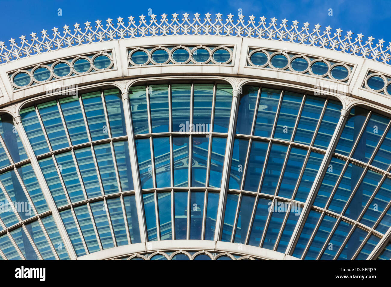
POLYGON ((273 143, 271 145, 269 157, 267 158, 265 175, 260 190, 261 193, 274 195, 276 192, 278 179, 281 175, 287 150, 288 146, 284 144, 273 143))

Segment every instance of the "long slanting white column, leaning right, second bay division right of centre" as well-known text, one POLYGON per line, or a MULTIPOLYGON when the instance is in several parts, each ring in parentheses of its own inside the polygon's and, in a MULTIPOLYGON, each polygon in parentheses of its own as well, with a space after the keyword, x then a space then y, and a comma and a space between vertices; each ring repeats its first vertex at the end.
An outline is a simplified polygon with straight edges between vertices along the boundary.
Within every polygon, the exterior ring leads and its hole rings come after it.
POLYGON ((298 220, 298 223, 296 224, 296 227, 293 230, 293 234, 291 237, 291 240, 289 241, 289 244, 287 246, 287 250, 285 251, 286 254, 291 255, 293 253, 294 247, 296 245, 296 242, 298 241, 301 230, 303 229, 303 226, 305 224, 305 221, 307 220, 307 216, 311 210, 312 203, 315 200, 317 190, 319 186, 322 184, 322 176, 324 175, 326 169, 328 168, 328 162, 330 161, 335 146, 337 146, 337 142, 339 139, 340 132, 342 132, 345 118, 348 116, 349 112, 346 109, 341 110, 341 117, 339 118, 339 121, 337 123, 337 127, 335 127, 334 134, 330 140, 330 144, 326 150, 325 156, 323 157, 322 163, 319 167, 319 171, 314 179, 314 184, 312 184, 311 190, 307 196, 307 200, 305 201, 305 205, 303 207, 303 210, 301 210, 301 214, 298 220))

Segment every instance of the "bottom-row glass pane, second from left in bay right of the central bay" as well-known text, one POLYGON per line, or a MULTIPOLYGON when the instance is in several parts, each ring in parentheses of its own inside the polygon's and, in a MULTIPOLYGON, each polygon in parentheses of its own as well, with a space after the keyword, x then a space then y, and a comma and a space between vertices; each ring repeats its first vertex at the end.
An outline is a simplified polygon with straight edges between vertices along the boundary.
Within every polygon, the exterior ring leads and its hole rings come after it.
POLYGON ((238 214, 238 220, 236 224, 236 231, 234 241, 235 243, 246 244, 246 236, 248 227, 250 225, 251 215, 253 213, 253 207, 255 202, 255 196, 242 196, 240 201, 240 209, 238 214))

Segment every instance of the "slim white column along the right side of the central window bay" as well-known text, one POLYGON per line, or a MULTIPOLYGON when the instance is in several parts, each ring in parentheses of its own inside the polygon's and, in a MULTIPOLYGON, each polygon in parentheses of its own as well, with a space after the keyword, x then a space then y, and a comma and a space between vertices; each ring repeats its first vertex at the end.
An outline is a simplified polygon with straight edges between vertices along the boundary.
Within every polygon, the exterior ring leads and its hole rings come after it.
POLYGON ((231 115, 230 115, 230 124, 228 126, 228 136, 227 136, 227 145, 224 154, 224 165, 222 169, 221 176, 221 190, 219 197, 219 208, 217 209, 217 218, 216 218, 216 229, 215 229, 215 241, 219 241, 222 235, 222 227, 224 221, 224 211, 225 211, 225 201, 228 191, 228 183, 230 180, 230 162, 232 157, 234 136, 235 136, 235 125, 237 118, 237 106, 238 106, 239 91, 232 91, 232 105, 231 105, 231 115))

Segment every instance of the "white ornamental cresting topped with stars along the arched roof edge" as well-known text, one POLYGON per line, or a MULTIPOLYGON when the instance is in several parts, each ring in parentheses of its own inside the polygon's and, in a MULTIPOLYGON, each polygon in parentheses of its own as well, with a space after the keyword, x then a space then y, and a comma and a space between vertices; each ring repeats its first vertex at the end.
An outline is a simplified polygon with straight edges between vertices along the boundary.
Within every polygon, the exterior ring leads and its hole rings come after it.
MULTIPOLYGON (((10 44, 5 45, 4 41, 0 41, 0 65, 7 62, 15 61, 23 57, 30 57, 41 53, 56 51, 63 48, 87 45, 90 43, 99 43, 120 39, 131 39, 139 37, 153 36, 175 36, 175 35, 215 35, 215 36, 236 36, 249 37, 258 39, 271 39, 276 41, 300 43, 308 46, 321 47, 329 50, 335 50, 373 61, 391 64, 391 42, 384 48, 383 39, 378 40, 378 43, 373 43, 374 38, 368 37, 368 40, 363 39, 364 35, 357 34, 357 37, 352 36, 353 32, 348 31, 346 35, 341 35, 341 29, 336 29, 332 32, 331 27, 325 27, 321 32, 321 25, 317 24, 310 27, 308 22, 303 23, 303 27, 299 28, 298 21, 292 21, 292 25, 288 24, 288 20, 283 19, 281 23, 277 23, 276 18, 271 18, 270 22, 266 21, 264 16, 260 17, 260 21, 253 15, 245 17, 239 15, 234 19, 232 14, 227 15, 223 19, 222 14, 215 14, 213 20, 212 14, 199 13, 194 14, 194 18, 189 14, 183 14, 183 18, 178 14, 172 14, 172 18, 168 19, 166 14, 161 15, 161 19, 156 19, 156 15, 152 14, 151 19, 145 19, 147 16, 139 16, 140 20, 135 20, 135 17, 128 17, 129 21, 123 21, 124 18, 117 18, 117 23, 113 23, 112 19, 106 20, 106 24, 102 21, 95 21, 95 25, 91 22, 84 23, 85 27, 80 27, 81 24, 75 23, 74 29, 69 29, 68 25, 63 27, 63 31, 59 31, 54 27, 53 32, 42 30, 41 36, 38 33, 31 33, 31 40, 27 40, 26 36, 19 37, 20 44, 15 39, 9 40, 10 44), (269 22, 269 23, 267 23, 269 22)), ((301 25, 300 25, 301 26, 301 25)), ((8 44, 8 43, 7 43, 8 44)))

